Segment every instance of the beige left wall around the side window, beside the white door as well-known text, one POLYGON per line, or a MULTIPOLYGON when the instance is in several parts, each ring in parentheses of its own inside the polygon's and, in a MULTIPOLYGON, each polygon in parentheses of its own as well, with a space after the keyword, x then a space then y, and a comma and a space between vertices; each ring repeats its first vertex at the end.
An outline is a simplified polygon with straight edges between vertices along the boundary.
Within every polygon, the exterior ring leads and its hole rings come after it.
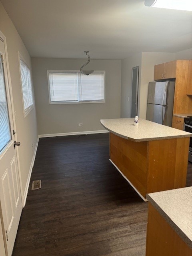
POLYGON ((18 147, 18 152, 21 172, 21 187, 22 194, 24 194, 32 157, 34 155, 34 148, 32 148, 32 143, 35 147, 38 138, 38 132, 35 108, 26 116, 26 118, 24 118, 23 114, 18 51, 22 54, 29 67, 31 66, 31 59, 16 28, 14 27, 1 2, 0 30, 4 36, 6 36, 7 40, 14 111, 16 111, 17 116, 16 136, 17 139, 21 142, 20 147, 18 147))

